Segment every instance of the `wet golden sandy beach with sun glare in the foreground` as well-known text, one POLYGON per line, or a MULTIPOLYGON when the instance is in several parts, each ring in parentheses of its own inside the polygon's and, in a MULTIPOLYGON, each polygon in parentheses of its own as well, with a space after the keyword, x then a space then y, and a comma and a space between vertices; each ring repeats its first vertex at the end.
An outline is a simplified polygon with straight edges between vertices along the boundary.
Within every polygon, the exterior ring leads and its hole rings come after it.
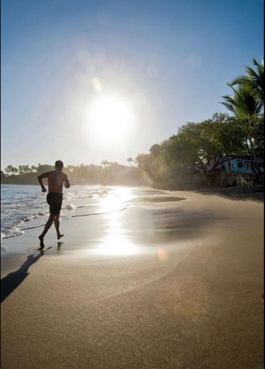
POLYGON ((263 368, 263 202, 134 191, 1 244, 4 369, 263 368))

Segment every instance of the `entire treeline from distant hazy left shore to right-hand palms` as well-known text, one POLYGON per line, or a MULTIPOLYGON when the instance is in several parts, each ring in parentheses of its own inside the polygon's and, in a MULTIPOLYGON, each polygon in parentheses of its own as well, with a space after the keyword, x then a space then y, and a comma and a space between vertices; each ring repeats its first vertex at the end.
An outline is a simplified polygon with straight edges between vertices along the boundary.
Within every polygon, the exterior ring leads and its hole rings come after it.
MULTIPOLYGON (((184 188, 196 172, 215 172, 231 155, 249 155, 252 170, 260 176, 257 158, 264 158, 264 62, 253 59, 254 70, 235 78, 228 86, 232 96, 222 97, 232 116, 215 113, 203 122, 188 122, 162 143, 152 145, 150 153, 135 158, 137 167, 109 163, 69 165, 65 168, 72 182, 90 184, 152 184, 155 187, 184 188)), ((35 184, 39 173, 53 170, 51 165, 18 168, 9 165, 2 183, 35 184)))

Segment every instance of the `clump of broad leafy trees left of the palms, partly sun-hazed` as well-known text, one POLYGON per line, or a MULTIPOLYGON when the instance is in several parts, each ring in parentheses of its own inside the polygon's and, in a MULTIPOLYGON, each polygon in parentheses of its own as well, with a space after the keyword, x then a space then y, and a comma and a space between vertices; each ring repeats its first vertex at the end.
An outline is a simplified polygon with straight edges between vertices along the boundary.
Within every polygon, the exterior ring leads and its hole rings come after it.
POLYGON ((136 161, 156 187, 183 188, 196 172, 220 170, 232 154, 246 150, 236 119, 216 113, 203 122, 184 124, 176 135, 152 145, 149 154, 137 155, 136 161))

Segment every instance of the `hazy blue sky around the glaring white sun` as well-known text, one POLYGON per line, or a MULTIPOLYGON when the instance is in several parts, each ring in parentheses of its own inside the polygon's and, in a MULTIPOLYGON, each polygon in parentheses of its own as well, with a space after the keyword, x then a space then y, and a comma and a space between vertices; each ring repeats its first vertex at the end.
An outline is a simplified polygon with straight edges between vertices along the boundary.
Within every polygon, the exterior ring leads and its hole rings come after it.
POLYGON ((1 0, 1 169, 125 164, 263 55, 262 0, 1 0))

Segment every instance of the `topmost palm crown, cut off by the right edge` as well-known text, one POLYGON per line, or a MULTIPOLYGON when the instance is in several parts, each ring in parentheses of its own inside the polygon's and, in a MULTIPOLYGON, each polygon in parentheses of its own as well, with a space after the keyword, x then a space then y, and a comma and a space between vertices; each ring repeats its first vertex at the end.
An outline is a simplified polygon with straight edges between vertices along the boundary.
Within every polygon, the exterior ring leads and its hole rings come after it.
POLYGON ((246 68, 246 75, 236 77, 230 83, 231 86, 239 84, 249 89, 249 92, 259 101, 260 104, 264 105, 264 60, 259 62, 253 59, 253 64, 256 66, 256 71, 251 67, 246 68))

